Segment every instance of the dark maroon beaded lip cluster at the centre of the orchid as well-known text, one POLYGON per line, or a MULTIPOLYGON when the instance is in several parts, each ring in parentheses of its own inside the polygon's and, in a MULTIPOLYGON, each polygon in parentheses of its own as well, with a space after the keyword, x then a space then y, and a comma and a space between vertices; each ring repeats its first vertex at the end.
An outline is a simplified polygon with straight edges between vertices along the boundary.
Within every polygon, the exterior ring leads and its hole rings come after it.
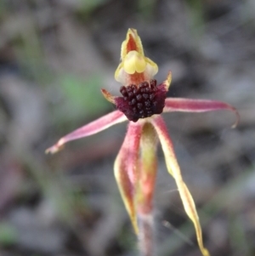
POLYGON ((117 97, 117 108, 122 111, 128 120, 137 122, 139 118, 151 117, 161 114, 165 106, 166 89, 156 85, 156 80, 122 86, 120 92, 123 97, 117 97))

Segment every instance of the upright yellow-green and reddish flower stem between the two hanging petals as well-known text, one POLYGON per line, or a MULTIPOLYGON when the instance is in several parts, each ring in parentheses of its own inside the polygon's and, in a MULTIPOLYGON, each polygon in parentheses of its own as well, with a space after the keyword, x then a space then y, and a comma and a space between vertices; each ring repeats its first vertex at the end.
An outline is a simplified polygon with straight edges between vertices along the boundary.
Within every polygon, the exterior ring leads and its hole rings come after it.
POLYGON ((140 144, 139 180, 136 198, 139 249, 142 256, 155 255, 152 201, 156 180, 156 145, 155 129, 149 123, 146 123, 140 144))

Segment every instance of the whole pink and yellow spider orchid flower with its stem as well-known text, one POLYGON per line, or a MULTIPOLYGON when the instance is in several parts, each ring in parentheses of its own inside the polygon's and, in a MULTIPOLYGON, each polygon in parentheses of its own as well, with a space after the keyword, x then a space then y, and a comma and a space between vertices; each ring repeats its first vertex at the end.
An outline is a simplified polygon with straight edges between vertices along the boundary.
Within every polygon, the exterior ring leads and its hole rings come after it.
POLYGON ((210 254, 203 244, 195 202, 184 183, 173 151, 173 142, 167 134, 161 113, 229 110, 237 117, 235 125, 239 114, 233 106, 221 101, 166 99, 172 75, 169 72, 166 81, 157 85, 153 78, 157 71, 156 63, 144 56, 137 31, 128 29, 127 37, 122 43, 121 63, 115 72, 116 81, 122 83, 122 96, 113 96, 105 89, 101 90, 105 99, 116 105, 116 111, 65 135, 48 148, 47 152, 55 153, 68 141, 97 134, 116 123, 129 121, 126 137, 116 156, 114 174, 133 229, 139 237, 141 253, 147 256, 154 254, 152 201, 156 181, 156 148, 159 141, 167 171, 175 179, 184 210, 195 226, 198 246, 202 255, 208 256, 210 254))

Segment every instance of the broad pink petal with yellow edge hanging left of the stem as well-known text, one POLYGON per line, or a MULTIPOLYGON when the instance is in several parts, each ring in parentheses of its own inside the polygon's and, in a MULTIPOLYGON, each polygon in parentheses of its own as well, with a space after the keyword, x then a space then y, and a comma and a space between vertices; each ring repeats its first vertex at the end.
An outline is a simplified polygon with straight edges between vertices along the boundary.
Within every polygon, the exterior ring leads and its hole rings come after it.
POLYGON ((139 143, 142 134, 141 122, 129 122, 127 135, 114 163, 114 174, 117 185, 122 195, 122 200, 133 224, 133 229, 138 233, 134 194, 137 183, 139 143))

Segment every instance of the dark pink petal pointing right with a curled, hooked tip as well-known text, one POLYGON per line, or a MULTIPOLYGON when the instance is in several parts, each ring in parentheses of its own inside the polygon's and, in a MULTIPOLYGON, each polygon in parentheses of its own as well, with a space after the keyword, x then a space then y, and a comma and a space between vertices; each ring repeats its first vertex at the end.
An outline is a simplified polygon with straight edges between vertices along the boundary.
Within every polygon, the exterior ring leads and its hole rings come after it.
POLYGON ((164 112, 183 111, 183 112, 206 112, 229 110, 235 112, 236 121, 232 128, 238 124, 240 116, 235 107, 217 100, 193 100, 184 98, 167 98, 165 101, 164 112))

